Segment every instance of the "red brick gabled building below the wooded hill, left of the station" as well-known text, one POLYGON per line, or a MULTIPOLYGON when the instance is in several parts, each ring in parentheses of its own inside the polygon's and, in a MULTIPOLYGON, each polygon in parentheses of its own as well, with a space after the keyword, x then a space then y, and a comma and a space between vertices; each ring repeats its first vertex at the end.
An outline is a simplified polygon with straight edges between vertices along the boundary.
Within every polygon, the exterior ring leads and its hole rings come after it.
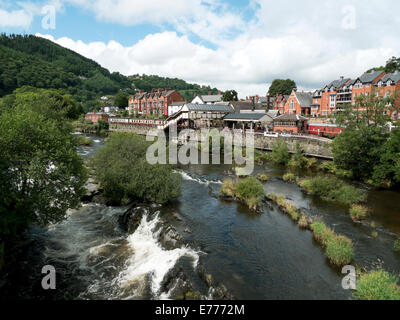
POLYGON ((185 100, 176 90, 153 89, 151 92, 140 90, 129 99, 129 114, 168 116, 168 106, 185 100))

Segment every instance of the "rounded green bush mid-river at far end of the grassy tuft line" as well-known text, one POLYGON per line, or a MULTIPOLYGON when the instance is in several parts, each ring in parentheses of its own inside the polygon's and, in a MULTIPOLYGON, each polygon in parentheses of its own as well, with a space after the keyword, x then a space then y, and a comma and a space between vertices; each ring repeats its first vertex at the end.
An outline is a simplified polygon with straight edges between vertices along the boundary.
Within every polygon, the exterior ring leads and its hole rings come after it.
POLYGON ((250 209, 255 210, 261 205, 261 196, 264 195, 264 188, 256 178, 248 177, 236 184, 236 195, 250 209))

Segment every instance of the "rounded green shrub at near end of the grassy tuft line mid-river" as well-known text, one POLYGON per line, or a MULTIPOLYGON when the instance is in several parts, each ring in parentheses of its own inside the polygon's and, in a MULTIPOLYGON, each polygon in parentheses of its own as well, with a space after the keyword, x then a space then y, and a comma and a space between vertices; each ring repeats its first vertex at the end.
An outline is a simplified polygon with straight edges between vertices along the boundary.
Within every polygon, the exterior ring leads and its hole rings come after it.
POLYGON ((345 236, 333 236, 326 242, 325 253, 334 265, 349 264, 353 259, 353 243, 345 236))

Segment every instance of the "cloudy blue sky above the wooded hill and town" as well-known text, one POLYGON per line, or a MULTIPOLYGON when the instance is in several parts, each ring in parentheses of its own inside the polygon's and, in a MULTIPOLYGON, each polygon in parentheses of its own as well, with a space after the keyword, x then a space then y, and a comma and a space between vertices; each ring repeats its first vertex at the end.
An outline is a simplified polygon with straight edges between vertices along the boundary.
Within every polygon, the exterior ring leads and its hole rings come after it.
POLYGON ((0 0, 0 31, 36 34, 111 72, 265 95, 355 78, 400 56, 398 0, 0 0))

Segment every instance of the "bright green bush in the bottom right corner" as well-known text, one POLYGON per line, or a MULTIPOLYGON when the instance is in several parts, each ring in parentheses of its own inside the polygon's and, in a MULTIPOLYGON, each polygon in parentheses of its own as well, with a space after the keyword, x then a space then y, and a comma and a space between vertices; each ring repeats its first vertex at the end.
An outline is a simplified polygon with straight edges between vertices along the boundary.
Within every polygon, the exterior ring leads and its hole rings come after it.
POLYGON ((400 300, 398 280, 384 270, 361 274, 354 295, 360 300, 400 300))

